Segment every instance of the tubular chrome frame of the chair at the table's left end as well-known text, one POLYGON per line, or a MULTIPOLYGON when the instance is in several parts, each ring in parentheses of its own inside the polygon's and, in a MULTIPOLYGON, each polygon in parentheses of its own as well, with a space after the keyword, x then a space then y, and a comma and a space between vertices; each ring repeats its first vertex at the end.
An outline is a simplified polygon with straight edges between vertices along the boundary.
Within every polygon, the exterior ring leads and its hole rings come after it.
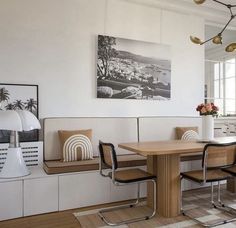
MULTIPOLYGON (((100 143, 102 143, 102 142, 99 142, 99 144, 100 143)), ((113 153, 111 153, 112 154, 112 161, 114 161, 116 159, 116 158, 114 158, 114 156, 116 156, 115 155, 114 145, 111 144, 111 143, 102 143, 102 144, 103 145, 111 146, 111 148, 113 150, 113 153)), ((100 155, 99 156, 99 172, 100 172, 101 176, 109 177, 110 178, 109 173, 105 174, 103 172, 104 165, 105 164, 103 163, 101 155, 100 155)), ((107 208, 107 209, 102 209, 102 210, 100 210, 98 212, 99 217, 109 226, 119 226, 119 225, 124 225, 124 224, 128 224, 128 223, 134 223, 134 222, 138 222, 138 221, 142 221, 142 220, 151 219, 156 214, 156 179, 148 179, 148 180, 143 180, 143 181, 135 181, 135 182, 132 182, 132 183, 120 183, 120 182, 115 180, 116 168, 117 167, 115 167, 114 162, 112 162, 112 167, 111 167, 112 183, 115 186, 125 186, 125 185, 137 184, 138 186, 137 186, 137 198, 136 198, 136 201, 134 203, 131 203, 131 204, 119 205, 119 206, 114 206, 114 207, 110 207, 110 208, 107 208), (127 219, 127 220, 124 220, 124 221, 121 221, 121 222, 116 222, 116 223, 113 223, 113 222, 109 221, 104 216, 104 213, 106 213, 106 212, 111 212, 111 211, 119 210, 119 209, 122 209, 122 208, 132 208, 132 207, 137 206, 139 204, 139 202, 140 202, 140 184, 141 183, 147 183, 147 182, 152 182, 152 184, 153 184, 153 211, 152 211, 152 213, 150 215, 145 215, 145 216, 142 216, 142 217, 139 217, 139 218, 134 218, 134 219, 127 219)))

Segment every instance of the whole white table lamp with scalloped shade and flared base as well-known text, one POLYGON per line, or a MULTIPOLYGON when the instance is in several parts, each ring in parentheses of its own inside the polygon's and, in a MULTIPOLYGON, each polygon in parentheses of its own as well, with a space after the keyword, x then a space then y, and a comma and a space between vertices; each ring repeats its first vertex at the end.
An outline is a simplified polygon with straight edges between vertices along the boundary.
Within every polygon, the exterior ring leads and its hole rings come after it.
POLYGON ((0 111, 0 129, 11 131, 7 157, 0 172, 0 178, 15 178, 30 174, 23 159, 18 132, 40 128, 38 119, 29 111, 0 111))

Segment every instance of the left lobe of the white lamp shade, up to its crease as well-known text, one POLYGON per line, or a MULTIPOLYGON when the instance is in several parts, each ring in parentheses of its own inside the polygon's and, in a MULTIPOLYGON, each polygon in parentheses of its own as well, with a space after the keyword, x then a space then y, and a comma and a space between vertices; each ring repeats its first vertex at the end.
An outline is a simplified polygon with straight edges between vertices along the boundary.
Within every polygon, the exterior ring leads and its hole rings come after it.
POLYGON ((22 131, 21 118, 16 111, 0 111, 0 129, 22 131))

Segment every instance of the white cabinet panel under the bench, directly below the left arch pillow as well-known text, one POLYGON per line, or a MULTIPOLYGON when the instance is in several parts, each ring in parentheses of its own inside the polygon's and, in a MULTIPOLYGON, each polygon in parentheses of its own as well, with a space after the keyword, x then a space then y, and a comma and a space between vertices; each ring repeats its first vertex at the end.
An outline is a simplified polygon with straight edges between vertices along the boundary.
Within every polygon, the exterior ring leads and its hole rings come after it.
POLYGON ((98 171, 59 176, 59 210, 110 202, 110 180, 98 171))

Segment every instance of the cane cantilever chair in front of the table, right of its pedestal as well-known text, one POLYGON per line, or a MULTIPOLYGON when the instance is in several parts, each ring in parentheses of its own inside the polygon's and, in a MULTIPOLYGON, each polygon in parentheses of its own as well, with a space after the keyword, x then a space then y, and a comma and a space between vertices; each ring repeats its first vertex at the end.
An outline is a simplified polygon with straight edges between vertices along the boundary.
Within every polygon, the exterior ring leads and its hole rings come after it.
MULTIPOLYGON (((222 168, 231 166, 235 163, 235 149, 236 142, 232 143, 209 143, 206 144, 203 149, 203 157, 202 157, 202 169, 194 170, 181 173, 181 180, 187 179, 189 181, 193 181, 200 185, 205 185, 206 183, 211 183, 211 204, 214 208, 225 211, 233 215, 233 210, 226 207, 221 202, 220 197, 220 182, 223 180, 227 180, 232 178, 232 176, 224 172, 222 168), (214 201, 214 186, 213 183, 218 183, 218 191, 217 191, 217 202, 214 201)), ((181 196, 181 207, 182 207, 182 196, 181 196)), ((181 208, 183 215, 186 215, 193 219, 195 222, 201 224, 204 227, 212 227, 221 224, 225 224, 228 222, 235 221, 236 218, 232 217, 228 220, 222 220, 220 222, 216 222, 214 224, 207 224, 199 221, 196 218, 193 218, 188 214, 188 211, 184 211, 181 208)))

